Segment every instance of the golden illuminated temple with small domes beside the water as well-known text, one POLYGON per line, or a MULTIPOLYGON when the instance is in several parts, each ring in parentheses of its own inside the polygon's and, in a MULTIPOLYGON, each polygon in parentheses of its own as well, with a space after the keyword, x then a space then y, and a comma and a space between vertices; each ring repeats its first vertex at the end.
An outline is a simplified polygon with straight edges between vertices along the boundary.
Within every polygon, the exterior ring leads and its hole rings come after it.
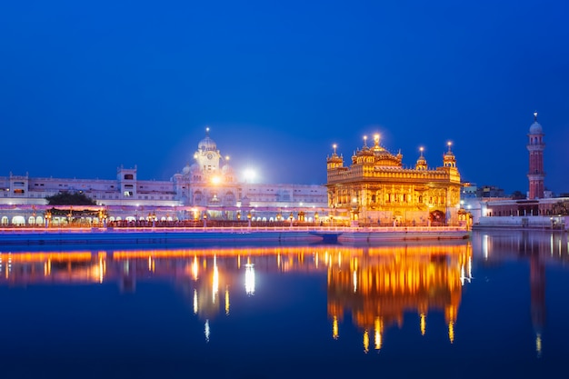
POLYGON ((326 159, 328 206, 335 219, 352 224, 459 224, 461 179, 448 144, 443 165, 429 168, 423 149, 414 167, 389 153, 374 135, 374 145, 352 155, 351 165, 334 152, 326 159))

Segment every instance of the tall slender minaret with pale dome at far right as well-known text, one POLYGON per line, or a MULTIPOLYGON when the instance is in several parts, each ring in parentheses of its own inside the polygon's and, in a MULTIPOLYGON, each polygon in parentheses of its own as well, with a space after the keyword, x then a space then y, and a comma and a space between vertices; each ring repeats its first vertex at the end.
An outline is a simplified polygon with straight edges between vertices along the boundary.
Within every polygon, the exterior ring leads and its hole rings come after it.
POLYGON ((530 126, 529 144, 527 150, 530 152, 530 170, 527 178, 530 182, 529 199, 539 199, 544 197, 544 132, 542 125, 537 122, 537 112, 534 112, 534 124, 530 126))

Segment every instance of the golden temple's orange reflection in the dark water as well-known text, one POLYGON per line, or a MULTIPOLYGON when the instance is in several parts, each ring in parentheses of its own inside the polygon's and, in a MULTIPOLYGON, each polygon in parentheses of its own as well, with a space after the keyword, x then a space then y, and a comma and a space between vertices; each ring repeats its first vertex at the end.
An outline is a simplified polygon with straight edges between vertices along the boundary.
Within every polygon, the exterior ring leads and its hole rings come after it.
POLYGON ((372 343, 370 334, 374 349, 380 350, 384 331, 394 324, 402 327, 404 314, 418 314, 418 329, 425 334, 427 315, 442 311, 452 343, 462 286, 472 278, 471 266, 471 244, 370 247, 344 263, 331 264, 328 315, 333 319, 333 337, 338 338, 338 322, 350 312, 363 331, 364 351, 372 343))

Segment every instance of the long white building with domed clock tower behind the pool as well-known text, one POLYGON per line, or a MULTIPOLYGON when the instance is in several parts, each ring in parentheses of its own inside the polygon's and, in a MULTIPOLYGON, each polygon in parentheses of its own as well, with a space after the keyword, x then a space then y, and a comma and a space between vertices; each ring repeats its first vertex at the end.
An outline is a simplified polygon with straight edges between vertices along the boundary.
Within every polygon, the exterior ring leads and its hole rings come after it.
MULTIPOLYGON (((140 180, 134 168, 118 167, 115 179, 70 179, 0 176, 0 224, 42 224, 46 196, 83 193, 105 209, 110 219, 186 220, 207 214, 212 219, 235 219, 254 214, 254 220, 284 219, 291 212, 306 214, 327 208, 324 185, 258 184, 236 178, 228 158, 221 155, 206 130, 193 165, 185 165, 169 181, 140 180)), ((83 207, 82 207, 83 208, 83 207)), ((93 207, 96 209, 97 207, 93 207)))

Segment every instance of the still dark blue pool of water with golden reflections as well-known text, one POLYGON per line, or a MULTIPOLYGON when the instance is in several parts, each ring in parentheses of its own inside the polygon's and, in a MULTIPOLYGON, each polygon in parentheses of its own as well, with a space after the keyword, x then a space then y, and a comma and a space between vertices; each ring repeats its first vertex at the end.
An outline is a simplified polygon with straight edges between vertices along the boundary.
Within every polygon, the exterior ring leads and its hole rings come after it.
POLYGON ((0 253, 2 378, 569 375, 563 233, 0 253))

